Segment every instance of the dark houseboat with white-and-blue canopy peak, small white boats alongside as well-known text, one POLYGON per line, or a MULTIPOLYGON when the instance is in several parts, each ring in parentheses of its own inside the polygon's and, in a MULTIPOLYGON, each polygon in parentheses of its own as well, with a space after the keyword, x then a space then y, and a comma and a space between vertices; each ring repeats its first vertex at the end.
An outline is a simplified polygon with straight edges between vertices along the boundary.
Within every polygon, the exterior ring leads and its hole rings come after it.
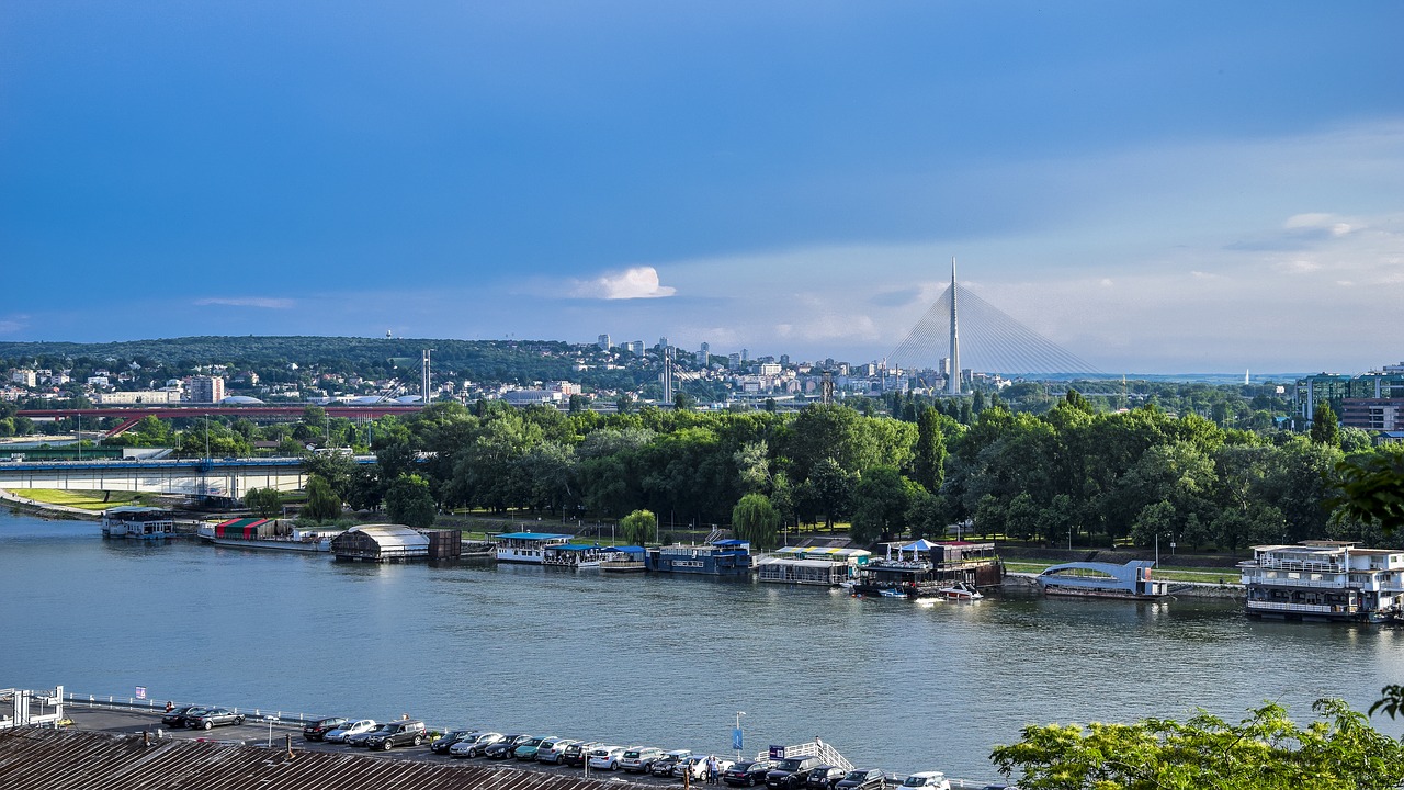
POLYGON ((917 540, 887 544, 885 557, 870 558, 851 585, 855 595, 938 597, 953 585, 973 589, 998 585, 1004 565, 993 543, 917 540))

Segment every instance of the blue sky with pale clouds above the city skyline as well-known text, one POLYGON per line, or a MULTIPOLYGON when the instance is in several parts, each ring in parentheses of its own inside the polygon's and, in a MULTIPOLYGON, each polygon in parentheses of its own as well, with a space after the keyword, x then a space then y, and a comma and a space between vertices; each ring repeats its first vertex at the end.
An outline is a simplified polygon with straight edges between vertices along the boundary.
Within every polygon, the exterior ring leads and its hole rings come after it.
POLYGON ((0 3, 0 342, 1404 360, 1404 3, 0 3))

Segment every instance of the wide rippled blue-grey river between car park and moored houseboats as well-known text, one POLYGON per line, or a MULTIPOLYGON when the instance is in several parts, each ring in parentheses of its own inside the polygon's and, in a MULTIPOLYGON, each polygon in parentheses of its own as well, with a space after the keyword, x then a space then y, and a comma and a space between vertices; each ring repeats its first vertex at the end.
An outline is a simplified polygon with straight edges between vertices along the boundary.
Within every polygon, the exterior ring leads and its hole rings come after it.
MULTIPOLYGON (((858 765, 993 777, 1033 723, 1369 707, 1404 631, 1233 602, 920 604, 701 578, 102 540, 0 512, 0 686, 729 752, 816 734, 858 765)), ((1376 721, 1390 735, 1400 725, 1376 721)))

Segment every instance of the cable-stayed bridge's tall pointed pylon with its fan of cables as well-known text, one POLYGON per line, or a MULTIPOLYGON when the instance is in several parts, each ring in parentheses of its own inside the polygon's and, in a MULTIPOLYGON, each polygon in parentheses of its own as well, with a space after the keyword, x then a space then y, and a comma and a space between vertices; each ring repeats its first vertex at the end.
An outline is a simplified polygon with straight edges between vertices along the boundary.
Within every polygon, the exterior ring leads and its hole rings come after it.
MULTIPOLYGON (((907 370, 952 370, 1024 378, 1104 378, 1081 357, 1029 329, 1009 313, 960 287, 951 263, 951 285, 887 354, 907 370), (958 309, 959 308, 959 309, 958 309)), ((948 387, 959 392, 958 387, 948 387)))

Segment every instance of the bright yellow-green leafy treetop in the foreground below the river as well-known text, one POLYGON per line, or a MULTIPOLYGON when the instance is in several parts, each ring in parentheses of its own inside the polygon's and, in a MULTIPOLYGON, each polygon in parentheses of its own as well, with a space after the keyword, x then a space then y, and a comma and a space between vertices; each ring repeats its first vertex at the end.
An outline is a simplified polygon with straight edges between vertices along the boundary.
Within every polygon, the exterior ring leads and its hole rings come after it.
POLYGON ((1404 746, 1341 700, 1300 727, 1278 704, 1238 723, 1032 725, 990 759, 1026 790, 1365 790, 1404 782, 1404 746))

